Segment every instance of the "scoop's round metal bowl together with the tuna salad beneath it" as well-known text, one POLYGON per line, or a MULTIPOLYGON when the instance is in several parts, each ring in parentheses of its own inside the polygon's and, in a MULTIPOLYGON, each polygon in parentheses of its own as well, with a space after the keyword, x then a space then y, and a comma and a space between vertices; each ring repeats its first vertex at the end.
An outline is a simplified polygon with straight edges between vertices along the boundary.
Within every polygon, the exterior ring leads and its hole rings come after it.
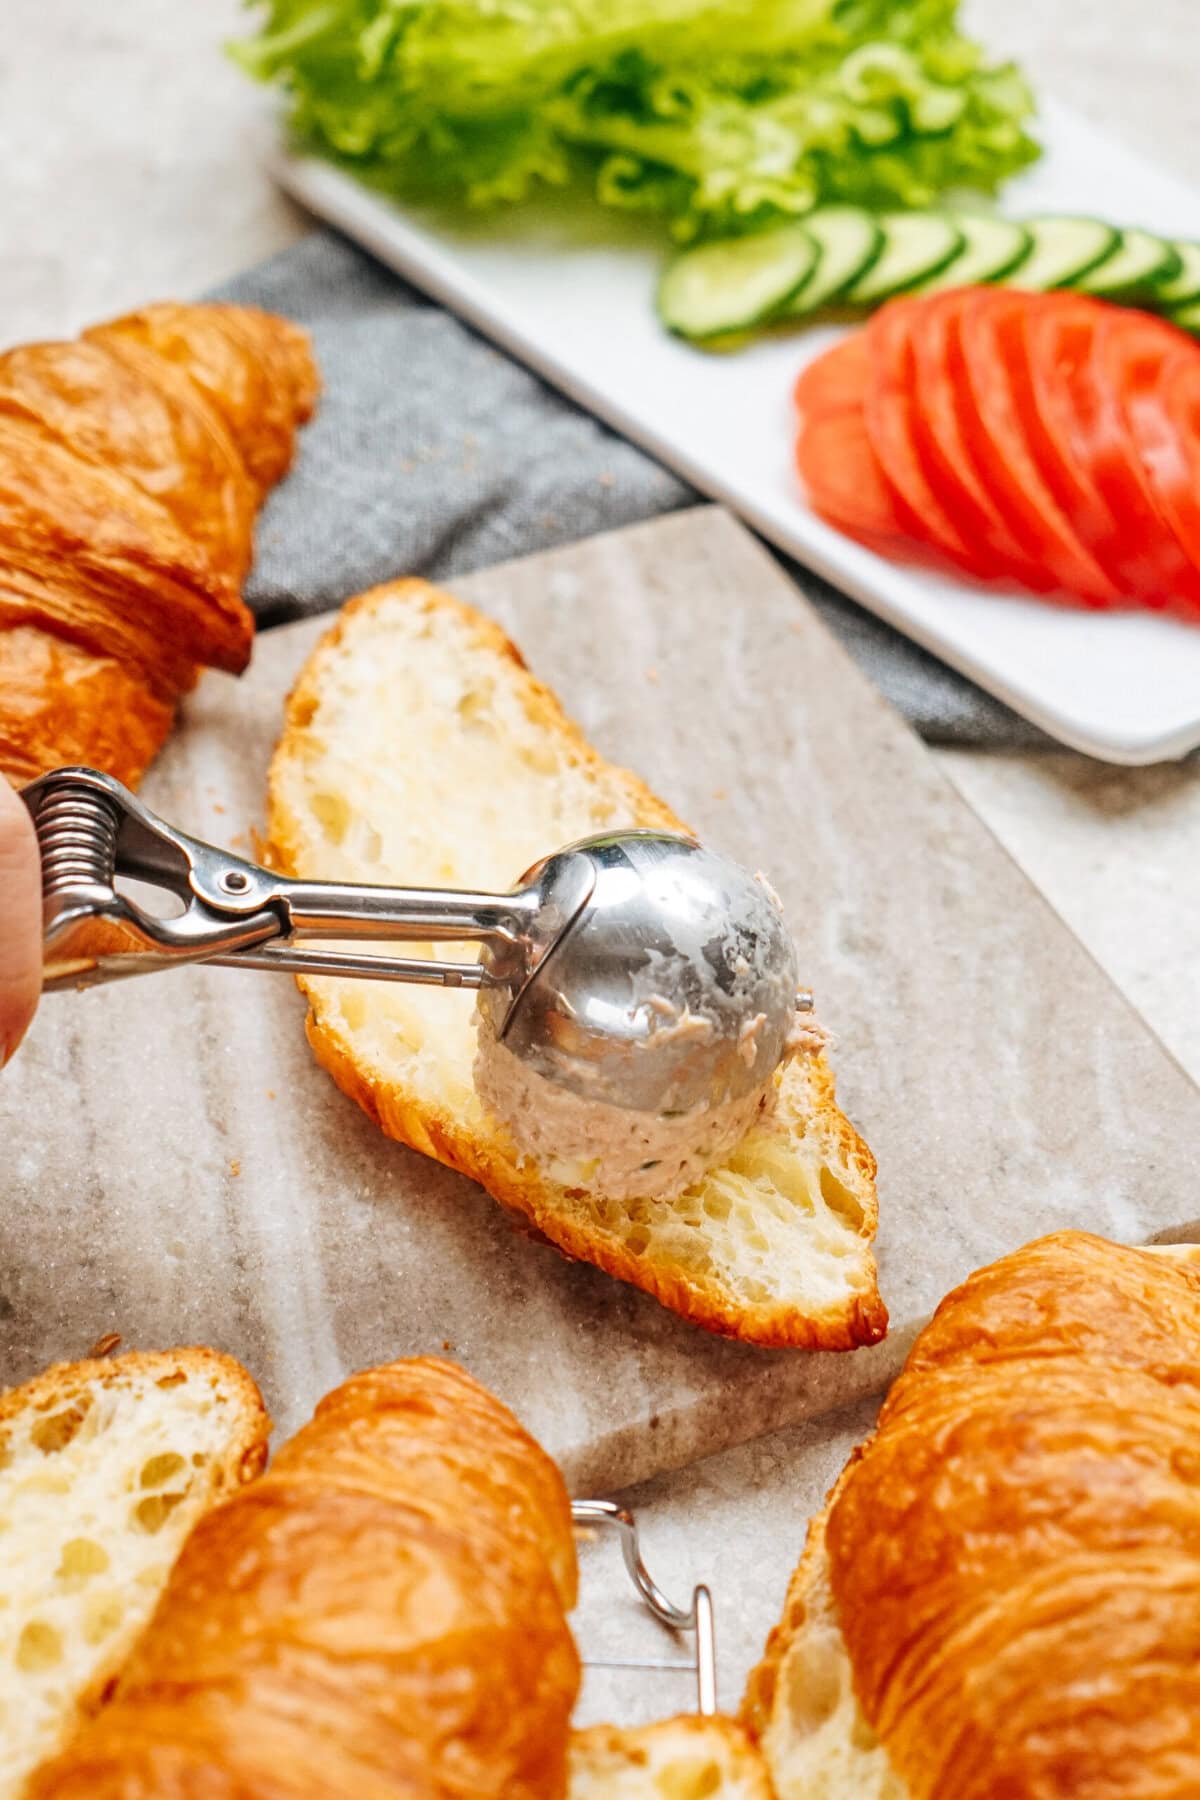
POLYGON ((761 877, 676 833, 579 851, 596 882, 536 977, 480 992, 475 1089, 552 1181, 669 1197, 772 1111, 811 999, 761 877))

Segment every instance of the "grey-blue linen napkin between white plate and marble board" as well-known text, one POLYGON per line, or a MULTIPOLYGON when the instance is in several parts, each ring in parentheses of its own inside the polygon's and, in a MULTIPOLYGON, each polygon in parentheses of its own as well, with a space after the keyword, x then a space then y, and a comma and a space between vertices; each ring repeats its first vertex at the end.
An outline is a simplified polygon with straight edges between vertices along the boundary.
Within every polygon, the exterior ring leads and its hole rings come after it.
MULTIPOLYGON (((297 466, 266 504, 248 601, 263 625, 396 574, 443 580, 570 544, 698 495, 336 232, 237 275, 219 299, 313 333, 324 378, 297 466)), ((937 743, 1049 740, 819 576, 784 562, 826 623, 937 743)))

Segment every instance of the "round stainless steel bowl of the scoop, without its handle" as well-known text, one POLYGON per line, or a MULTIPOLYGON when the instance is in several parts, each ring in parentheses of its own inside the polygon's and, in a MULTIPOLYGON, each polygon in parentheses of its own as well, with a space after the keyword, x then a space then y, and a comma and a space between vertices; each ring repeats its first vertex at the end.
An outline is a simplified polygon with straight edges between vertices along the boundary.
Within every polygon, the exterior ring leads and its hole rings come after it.
POLYGON ((583 1100, 716 1107, 763 1087, 795 1026, 797 963, 763 880, 673 832, 612 832, 525 873, 516 979, 480 994, 495 1035, 583 1100))

